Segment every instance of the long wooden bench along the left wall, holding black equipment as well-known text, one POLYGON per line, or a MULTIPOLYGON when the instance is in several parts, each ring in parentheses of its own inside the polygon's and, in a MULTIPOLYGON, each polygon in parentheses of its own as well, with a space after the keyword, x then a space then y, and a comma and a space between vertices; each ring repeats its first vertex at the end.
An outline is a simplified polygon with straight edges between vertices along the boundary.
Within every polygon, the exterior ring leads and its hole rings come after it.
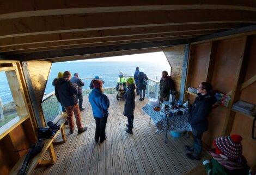
MULTIPOLYGON (((31 159, 29 162, 29 165, 27 167, 26 174, 31 174, 36 166, 47 166, 47 165, 53 165, 56 161, 56 154, 54 152, 53 144, 62 144, 66 141, 66 133, 64 129, 64 123, 66 121, 65 117, 60 118, 60 120, 57 122, 57 125, 60 125, 60 129, 56 132, 53 138, 51 139, 45 139, 44 140, 44 147, 42 148, 42 151, 35 155, 34 158, 31 159), (62 140, 56 141, 56 137, 58 133, 62 133, 62 140), (48 150, 50 154, 50 160, 41 160, 42 155, 48 150)), ((9 174, 19 174, 23 161, 26 158, 26 155, 23 155, 23 157, 15 164, 15 166, 11 169, 9 174)))

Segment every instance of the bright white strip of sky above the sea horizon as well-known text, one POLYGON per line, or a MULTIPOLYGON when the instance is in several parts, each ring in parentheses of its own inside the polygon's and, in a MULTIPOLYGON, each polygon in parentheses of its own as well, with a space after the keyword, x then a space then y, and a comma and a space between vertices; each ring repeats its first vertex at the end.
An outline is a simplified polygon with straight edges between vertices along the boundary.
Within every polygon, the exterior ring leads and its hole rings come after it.
POLYGON ((168 63, 166 56, 162 51, 155 53, 146 53, 146 54, 135 54, 135 55, 124 55, 124 56, 112 56, 112 57, 103 57, 100 59, 89 59, 89 60, 78 60, 72 62, 95 62, 95 61, 147 61, 147 62, 155 62, 157 61, 166 61, 168 63))

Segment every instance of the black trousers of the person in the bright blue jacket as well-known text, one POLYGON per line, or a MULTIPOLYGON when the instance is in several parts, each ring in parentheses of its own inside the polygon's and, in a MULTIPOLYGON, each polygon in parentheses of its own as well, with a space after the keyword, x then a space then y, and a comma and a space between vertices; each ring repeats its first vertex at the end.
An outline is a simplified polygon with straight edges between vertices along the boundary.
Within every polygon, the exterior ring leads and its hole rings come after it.
POLYGON ((95 137, 96 141, 104 141, 106 137, 106 124, 107 124, 107 116, 103 118, 94 117, 96 123, 95 129, 95 137))

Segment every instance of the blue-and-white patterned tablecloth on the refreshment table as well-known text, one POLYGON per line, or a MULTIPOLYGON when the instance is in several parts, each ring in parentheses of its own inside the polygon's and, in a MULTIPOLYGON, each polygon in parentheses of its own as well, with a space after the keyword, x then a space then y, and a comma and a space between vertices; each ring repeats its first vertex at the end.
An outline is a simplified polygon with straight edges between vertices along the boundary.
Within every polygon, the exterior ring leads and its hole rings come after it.
POLYGON ((149 117, 154 121, 159 132, 169 131, 192 131, 191 125, 187 122, 188 114, 173 115, 168 118, 163 118, 160 112, 154 111, 150 105, 145 105, 142 108, 144 113, 147 113, 149 117))

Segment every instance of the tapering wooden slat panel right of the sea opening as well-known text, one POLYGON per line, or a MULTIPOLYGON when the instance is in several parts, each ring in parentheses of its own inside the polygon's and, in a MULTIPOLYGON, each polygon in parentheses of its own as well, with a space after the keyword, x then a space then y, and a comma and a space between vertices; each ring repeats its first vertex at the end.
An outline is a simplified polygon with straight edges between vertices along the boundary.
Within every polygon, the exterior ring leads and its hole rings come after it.
MULTIPOLYGON (((164 54, 167 57, 167 60, 170 64, 170 72, 172 79, 175 83, 175 88, 177 90, 176 97, 180 95, 180 83, 181 83, 181 74, 182 66, 184 59, 184 45, 169 47, 163 50, 164 54)), ((169 70, 167 70, 169 72, 169 70)))

